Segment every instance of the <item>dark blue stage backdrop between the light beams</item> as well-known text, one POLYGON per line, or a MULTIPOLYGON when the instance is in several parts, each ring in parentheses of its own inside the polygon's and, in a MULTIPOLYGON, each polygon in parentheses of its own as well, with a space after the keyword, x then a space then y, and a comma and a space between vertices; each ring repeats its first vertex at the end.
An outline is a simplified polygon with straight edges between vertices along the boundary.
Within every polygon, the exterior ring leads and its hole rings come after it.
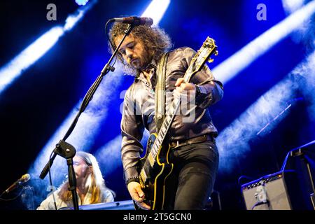
MULTIPOLYGON (((148 3, 148 0, 99 1, 82 21, 0 93, 1 192, 28 172, 38 153, 108 61, 106 21, 124 15, 139 15, 148 3)), ((50 28, 64 25, 67 16, 79 7, 74 1, 1 1, 0 68, 50 28), (48 3, 57 6, 57 21, 46 20, 48 3)), ((174 0, 160 27, 172 37, 174 48, 187 45, 197 50, 207 36, 216 39, 219 56, 209 65, 214 68, 286 16, 281 1, 174 0), (258 3, 267 6, 266 21, 256 20, 258 3)), ((226 83, 223 100, 211 107, 218 132, 286 77, 302 62, 308 50, 303 41, 293 41, 292 36, 287 36, 226 83)), ((220 80, 220 77, 216 78, 220 80)), ((102 121, 89 148, 91 153, 120 134, 119 106, 123 99, 119 94, 131 83, 132 77, 124 76, 122 85, 111 94, 111 102, 107 105, 109 116, 102 121)), ((223 210, 245 209, 240 185, 278 172, 288 151, 314 140, 314 121, 309 120, 307 111, 311 103, 300 91, 302 88, 297 88, 294 95, 303 97, 302 100, 286 111, 280 123, 260 138, 247 139, 250 151, 233 158, 232 170, 219 170, 215 190, 220 193, 223 210)), ((261 127, 264 125, 262 123, 261 127)), ((130 200, 121 162, 117 161, 117 164, 112 172, 106 172, 106 184, 116 191, 116 200, 130 200)), ((45 184, 41 184, 38 176, 32 177, 30 184, 35 182, 41 186, 36 187, 36 194, 44 197, 45 184)), ((15 194, 18 193, 12 193, 15 194)), ((2 209, 23 209, 15 201, 0 203, 2 209)), ((216 195, 214 208, 218 209, 216 195)))

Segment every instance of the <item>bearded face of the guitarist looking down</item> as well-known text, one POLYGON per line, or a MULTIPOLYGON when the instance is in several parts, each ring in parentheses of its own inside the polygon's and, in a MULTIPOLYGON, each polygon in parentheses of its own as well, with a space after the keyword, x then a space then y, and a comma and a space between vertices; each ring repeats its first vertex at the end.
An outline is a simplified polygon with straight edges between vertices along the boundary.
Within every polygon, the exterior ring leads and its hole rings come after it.
MULTIPOLYGON (((116 45, 119 44, 121 38, 123 38, 123 35, 116 38, 116 45)), ((144 43, 132 34, 125 38, 123 44, 119 48, 119 52, 120 55, 123 56, 123 59, 125 59, 125 62, 134 69, 144 69, 152 59, 146 50, 144 43)))

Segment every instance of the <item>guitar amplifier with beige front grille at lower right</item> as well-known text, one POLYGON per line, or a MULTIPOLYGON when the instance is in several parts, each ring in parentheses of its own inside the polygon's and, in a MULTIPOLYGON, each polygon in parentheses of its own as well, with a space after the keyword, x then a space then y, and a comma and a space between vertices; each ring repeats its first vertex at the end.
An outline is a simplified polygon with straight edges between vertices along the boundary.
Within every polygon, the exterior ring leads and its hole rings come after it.
POLYGON ((276 172, 241 186, 247 210, 304 209, 297 175, 293 171, 276 172))

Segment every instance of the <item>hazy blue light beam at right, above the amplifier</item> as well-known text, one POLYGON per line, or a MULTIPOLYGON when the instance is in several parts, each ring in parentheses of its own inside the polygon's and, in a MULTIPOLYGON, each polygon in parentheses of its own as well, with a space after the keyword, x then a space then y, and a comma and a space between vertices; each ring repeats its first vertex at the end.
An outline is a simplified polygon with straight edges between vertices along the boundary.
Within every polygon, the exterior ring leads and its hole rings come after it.
MULTIPOLYGON (((314 73, 315 51, 221 131, 216 139, 221 172, 232 172, 238 159, 244 158, 250 151, 249 140, 263 137, 286 117, 290 106, 300 100, 295 98, 295 90, 299 85, 304 87, 304 83, 299 83, 302 80, 300 77, 305 76, 311 80, 314 73)), ((311 109, 314 110, 314 107, 311 109)))

